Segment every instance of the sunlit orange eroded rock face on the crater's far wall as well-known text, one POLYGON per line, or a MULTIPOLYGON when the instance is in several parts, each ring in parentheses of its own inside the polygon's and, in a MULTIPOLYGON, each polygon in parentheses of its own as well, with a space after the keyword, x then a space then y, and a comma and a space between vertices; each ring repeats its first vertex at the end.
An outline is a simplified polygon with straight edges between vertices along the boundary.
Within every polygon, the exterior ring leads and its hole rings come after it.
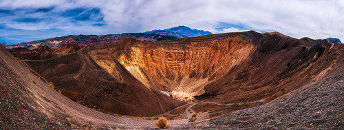
POLYGON ((152 78, 170 91, 194 96, 204 92, 206 82, 222 77, 256 48, 242 37, 208 42, 135 44, 118 60, 148 88, 152 86, 148 79, 152 78))

